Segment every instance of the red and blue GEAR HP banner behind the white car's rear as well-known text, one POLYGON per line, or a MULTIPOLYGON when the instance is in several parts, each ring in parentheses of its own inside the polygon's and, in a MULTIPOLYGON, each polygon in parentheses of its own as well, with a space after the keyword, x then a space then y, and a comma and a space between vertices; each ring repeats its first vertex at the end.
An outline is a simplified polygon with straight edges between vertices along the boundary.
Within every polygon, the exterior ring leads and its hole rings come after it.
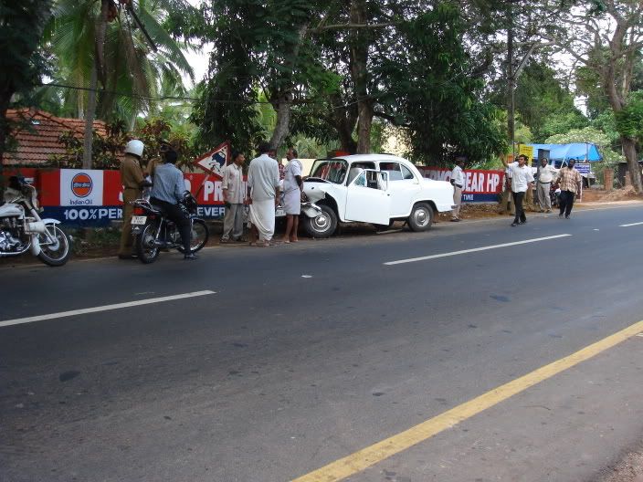
MULTIPOLYGON (((424 177, 436 181, 451 180, 451 171, 439 167, 418 167, 424 177)), ((497 203, 498 194, 502 193, 504 171, 485 171, 481 169, 466 169, 464 171, 467 183, 462 190, 463 203, 497 203)))

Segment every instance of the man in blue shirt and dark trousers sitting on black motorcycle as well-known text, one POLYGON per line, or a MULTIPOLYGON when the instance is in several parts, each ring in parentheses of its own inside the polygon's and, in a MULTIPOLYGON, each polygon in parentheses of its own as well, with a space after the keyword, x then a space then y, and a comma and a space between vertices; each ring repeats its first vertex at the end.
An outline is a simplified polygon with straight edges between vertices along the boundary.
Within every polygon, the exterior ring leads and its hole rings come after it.
POLYGON ((183 199, 185 183, 183 173, 174 165, 178 155, 174 150, 165 152, 165 163, 156 167, 150 203, 163 209, 168 219, 179 228, 184 246, 184 259, 196 259, 190 249, 190 220, 179 201, 183 199))

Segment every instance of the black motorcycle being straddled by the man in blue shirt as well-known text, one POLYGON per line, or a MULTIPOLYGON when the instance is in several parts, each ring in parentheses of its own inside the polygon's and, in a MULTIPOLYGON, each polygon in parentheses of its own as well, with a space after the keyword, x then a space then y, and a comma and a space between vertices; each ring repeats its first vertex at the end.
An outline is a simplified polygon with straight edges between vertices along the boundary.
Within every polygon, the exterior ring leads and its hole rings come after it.
MULTIPOLYGON (((153 263, 164 248, 174 248, 184 253, 178 227, 165 217, 161 208, 147 199, 137 199, 132 204, 132 236, 136 254, 142 263, 153 263)), ((210 233, 206 221, 196 216, 195 196, 186 191, 179 205, 190 220, 190 248, 195 253, 206 246, 210 233)))

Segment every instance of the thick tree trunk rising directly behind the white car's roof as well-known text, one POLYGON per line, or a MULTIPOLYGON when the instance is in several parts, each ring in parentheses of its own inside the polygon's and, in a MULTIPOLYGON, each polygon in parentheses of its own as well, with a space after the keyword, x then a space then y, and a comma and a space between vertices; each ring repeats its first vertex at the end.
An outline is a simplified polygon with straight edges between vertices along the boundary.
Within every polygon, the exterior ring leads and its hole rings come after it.
MULTIPOLYGON (((364 0, 353 0, 351 23, 364 25, 367 22, 364 0)), ((373 123, 373 100, 368 93, 368 36, 366 30, 353 29, 351 33, 351 77, 357 97, 357 153, 371 152, 371 124, 373 123)))

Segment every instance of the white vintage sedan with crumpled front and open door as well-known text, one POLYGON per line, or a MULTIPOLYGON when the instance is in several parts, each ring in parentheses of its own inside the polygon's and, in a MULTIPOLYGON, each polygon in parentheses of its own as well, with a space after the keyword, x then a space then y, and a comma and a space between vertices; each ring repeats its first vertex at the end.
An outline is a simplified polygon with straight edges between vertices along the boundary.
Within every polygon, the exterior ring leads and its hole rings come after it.
POLYGON ((338 221, 385 228, 405 220, 413 231, 426 231, 435 212, 454 207, 450 183, 426 179, 412 162, 390 154, 318 159, 304 193, 303 224, 313 237, 331 236, 338 221))

